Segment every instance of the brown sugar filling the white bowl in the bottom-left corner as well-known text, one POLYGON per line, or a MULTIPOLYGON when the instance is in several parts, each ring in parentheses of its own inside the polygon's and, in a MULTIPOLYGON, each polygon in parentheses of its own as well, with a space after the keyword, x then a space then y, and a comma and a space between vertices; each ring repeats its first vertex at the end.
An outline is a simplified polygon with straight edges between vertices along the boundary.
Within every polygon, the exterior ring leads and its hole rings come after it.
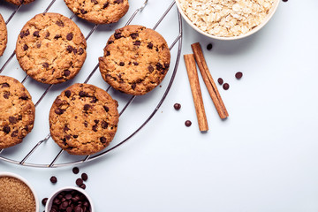
POLYGON ((0 177, 0 212, 35 212, 34 194, 18 178, 0 177))

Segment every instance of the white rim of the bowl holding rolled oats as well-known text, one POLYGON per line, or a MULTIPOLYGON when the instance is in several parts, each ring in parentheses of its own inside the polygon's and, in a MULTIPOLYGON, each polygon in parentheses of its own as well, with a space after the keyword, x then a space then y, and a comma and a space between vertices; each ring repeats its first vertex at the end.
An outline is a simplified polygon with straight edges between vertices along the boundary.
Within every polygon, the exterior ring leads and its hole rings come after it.
POLYGON ((202 31, 199 27, 196 27, 193 22, 187 18, 185 12, 182 10, 181 8, 181 5, 179 3, 180 0, 176 0, 176 3, 177 3, 177 6, 178 6, 178 11, 180 11, 182 17, 186 20, 186 22, 191 26, 193 27, 193 29, 195 29, 196 31, 198 31, 199 33, 201 34, 204 34, 206 35, 207 37, 210 37, 210 38, 214 38, 214 39, 217 39, 217 40, 225 40, 225 41, 230 41, 230 40, 238 40, 238 39, 241 39, 241 38, 244 38, 244 37, 247 37, 251 34, 254 34, 256 33, 257 31, 259 31, 262 27, 264 27, 268 22, 269 22, 269 19, 271 19, 278 7, 278 4, 280 2, 280 0, 275 0, 274 1, 274 4, 272 6, 272 8, 270 9, 269 11, 269 14, 263 19, 263 21, 261 22, 260 25, 258 25, 257 27, 254 27, 251 31, 249 31, 248 33, 246 34, 240 34, 239 36, 232 36, 232 37, 221 37, 221 36, 216 36, 216 35, 213 35, 213 34, 208 34, 204 31, 202 31))

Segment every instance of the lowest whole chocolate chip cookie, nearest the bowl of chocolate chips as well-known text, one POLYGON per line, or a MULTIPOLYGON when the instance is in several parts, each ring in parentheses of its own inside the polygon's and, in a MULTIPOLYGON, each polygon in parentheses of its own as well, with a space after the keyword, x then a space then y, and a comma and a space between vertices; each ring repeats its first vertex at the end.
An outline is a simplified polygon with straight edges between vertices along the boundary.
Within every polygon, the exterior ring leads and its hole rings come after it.
POLYGON ((117 101, 99 87, 74 84, 57 96, 49 111, 52 139, 72 155, 106 148, 117 132, 117 101))

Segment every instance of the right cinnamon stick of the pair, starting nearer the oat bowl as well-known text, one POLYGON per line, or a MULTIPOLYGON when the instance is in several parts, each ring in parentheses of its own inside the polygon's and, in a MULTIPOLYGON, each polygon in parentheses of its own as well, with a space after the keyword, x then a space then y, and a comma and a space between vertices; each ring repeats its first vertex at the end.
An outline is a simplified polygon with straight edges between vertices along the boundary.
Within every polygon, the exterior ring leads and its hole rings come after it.
POLYGON ((208 94, 211 96, 212 101, 216 106, 217 113, 222 119, 229 117, 229 113, 226 110, 221 95, 217 90, 216 83, 214 82, 212 75, 208 70, 208 65, 204 58, 200 43, 193 43, 191 47, 193 49, 195 61, 199 66, 203 81, 208 88, 208 94))

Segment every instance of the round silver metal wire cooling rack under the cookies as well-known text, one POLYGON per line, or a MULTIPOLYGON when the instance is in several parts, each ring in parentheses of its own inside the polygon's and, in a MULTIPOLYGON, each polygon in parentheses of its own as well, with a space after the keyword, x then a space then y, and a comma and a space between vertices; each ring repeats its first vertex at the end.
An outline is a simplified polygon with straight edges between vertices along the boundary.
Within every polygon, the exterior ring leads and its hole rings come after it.
MULTIPOLYGON (((50 4, 48 5, 48 7, 46 8, 45 11, 43 11, 43 13, 46 13, 49 11, 49 8, 56 2, 56 0, 52 0, 50 2, 50 4)), ((135 18, 135 16, 142 11, 148 4, 148 0, 146 0, 144 2, 144 4, 141 5, 141 7, 139 9, 137 9, 136 11, 133 12, 133 15, 131 16, 130 19, 128 19, 127 23, 125 24, 125 26, 129 25, 133 19, 135 18)), ((175 1, 173 1, 170 6, 168 7, 168 9, 166 11, 164 11, 162 17, 156 22, 155 27, 153 27, 153 29, 155 30, 160 23, 163 21, 163 19, 167 16, 167 14, 170 12, 171 8, 175 5, 175 1)), ((9 19, 7 19, 5 21, 5 24, 8 24, 10 22, 10 20, 13 18, 13 16, 19 11, 19 9, 21 8, 22 5, 19 5, 15 11, 13 11, 11 13, 11 16, 9 17, 9 19)), ((73 19, 75 16, 75 14, 72 14, 72 16, 70 17, 70 19, 73 19)), ((91 29, 91 31, 87 34, 86 36, 86 40, 89 39, 89 37, 95 32, 96 28, 98 27, 98 25, 95 25, 95 27, 93 27, 91 29)), ((160 106, 163 104, 163 101, 165 100, 166 96, 168 95, 169 91, 170 91, 170 87, 172 86, 173 80, 175 79, 176 73, 177 73, 177 69, 178 69, 178 64, 179 64, 179 60, 180 60, 180 56, 181 56, 181 48, 182 48, 182 19, 181 19, 181 15, 178 12, 178 36, 177 38, 174 40, 174 42, 171 43, 170 45, 170 49, 173 49, 176 45, 176 43, 178 42, 178 55, 176 58, 176 63, 174 66, 174 70, 172 72, 171 78, 170 78, 170 82, 168 84, 168 87, 166 88, 161 100, 158 102, 157 106, 155 107, 155 110, 152 111, 152 113, 149 115, 149 117, 146 119, 146 121, 144 121, 139 128, 137 128, 137 130, 135 130, 132 134, 130 134, 125 140, 122 140, 121 142, 119 142, 117 145, 115 145, 112 148, 106 148, 106 150, 102 151, 101 153, 98 153, 96 155, 87 155, 84 159, 82 160, 78 160, 78 161, 74 161, 74 162, 70 162, 70 163, 56 163, 57 159, 64 153, 64 150, 61 149, 59 151, 59 153, 56 155, 56 157, 52 160, 51 163, 49 164, 37 164, 37 163, 26 163, 27 159, 34 153, 34 151, 40 147, 40 145, 49 140, 50 138, 50 134, 48 134, 43 140, 40 140, 35 146, 34 148, 32 148, 27 155, 21 160, 21 161, 17 161, 17 160, 12 160, 10 158, 6 158, 4 156, 1 156, 1 153, 4 152, 4 149, 0 149, 0 160, 3 160, 5 162, 9 162, 9 163, 15 163, 15 164, 19 164, 19 165, 24 165, 24 166, 30 166, 30 167, 40 167, 40 168, 53 168, 53 167, 63 167, 63 166, 67 166, 67 165, 75 165, 75 164, 79 164, 79 163, 86 163, 88 161, 93 161, 97 158, 102 157, 102 155, 106 155, 107 153, 109 153, 110 151, 114 150, 115 148, 118 148, 119 146, 121 146, 122 144, 124 144, 127 140, 130 140, 133 135, 135 135, 136 133, 140 132, 140 130, 148 124, 148 121, 155 116, 155 113, 157 112, 157 110, 159 110, 160 106)), ((11 59, 14 57, 15 52, 13 52, 11 54, 11 56, 6 60, 6 62, 4 63, 4 65, 1 67, 0 69, 0 73, 4 71, 5 67, 7 66, 7 64, 10 63, 11 59)), ((92 72, 90 72, 90 74, 88 75, 87 79, 84 81, 84 83, 87 83, 89 81, 89 79, 91 79, 91 77, 94 75, 95 71, 98 68, 98 64, 95 65, 95 68, 93 69, 92 72)), ((29 78, 29 76, 26 76, 21 83, 26 82, 26 80, 29 78)), ((49 87, 46 88, 46 90, 43 92, 42 96, 39 98, 39 100, 34 104, 35 107, 37 105, 39 105, 40 102, 42 102, 42 99, 44 98, 45 95, 47 95, 49 93, 49 90, 53 87, 54 85, 49 85, 49 87)), ((107 92, 110 91, 110 86, 106 89, 107 92)), ((121 110, 119 112, 119 116, 121 116, 124 111, 127 109, 127 107, 133 102, 133 100, 136 98, 135 95, 133 95, 128 102, 126 102, 125 107, 123 108, 123 110, 121 110)))

